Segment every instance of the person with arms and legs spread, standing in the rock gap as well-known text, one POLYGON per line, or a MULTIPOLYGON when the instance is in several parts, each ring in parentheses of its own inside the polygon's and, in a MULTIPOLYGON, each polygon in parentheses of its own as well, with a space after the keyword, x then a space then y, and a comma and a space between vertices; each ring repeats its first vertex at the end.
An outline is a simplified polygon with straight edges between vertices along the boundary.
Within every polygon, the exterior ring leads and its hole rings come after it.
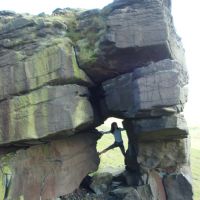
POLYGON ((107 147, 106 149, 104 149, 103 151, 99 152, 99 155, 114 149, 116 147, 119 147, 122 154, 125 156, 125 148, 124 148, 124 144, 123 144, 123 140, 122 140, 122 136, 121 136, 121 131, 123 131, 123 128, 119 128, 116 122, 113 122, 111 124, 111 130, 110 131, 101 131, 102 134, 107 134, 107 133, 112 133, 114 138, 115 138, 115 142, 110 145, 109 147, 107 147))

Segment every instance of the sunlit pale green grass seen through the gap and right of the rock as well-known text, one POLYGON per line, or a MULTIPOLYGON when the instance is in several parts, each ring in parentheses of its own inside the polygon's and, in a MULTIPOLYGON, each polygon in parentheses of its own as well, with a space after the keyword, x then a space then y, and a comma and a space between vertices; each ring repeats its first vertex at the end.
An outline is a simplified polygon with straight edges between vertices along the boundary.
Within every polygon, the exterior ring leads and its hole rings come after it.
MULTIPOLYGON (((99 128, 100 130, 109 130, 109 125, 103 125, 99 128)), ((194 127, 190 129, 191 135, 191 169, 193 175, 193 192, 194 200, 200 200, 200 127, 194 127)), ((127 149, 127 137, 126 133, 122 134, 125 148, 127 149)), ((101 151, 102 149, 108 147, 114 142, 113 136, 111 134, 104 135, 101 140, 99 140, 97 149, 101 151)), ((121 154, 119 148, 110 150, 105 154, 100 156, 101 163, 98 172, 111 172, 113 174, 124 170, 124 158, 121 154)))

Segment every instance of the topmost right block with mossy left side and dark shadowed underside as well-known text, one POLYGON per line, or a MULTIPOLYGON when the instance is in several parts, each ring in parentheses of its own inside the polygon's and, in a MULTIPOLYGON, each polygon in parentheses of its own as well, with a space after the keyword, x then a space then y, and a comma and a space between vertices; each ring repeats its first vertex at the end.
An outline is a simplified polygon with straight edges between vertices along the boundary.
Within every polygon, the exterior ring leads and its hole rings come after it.
POLYGON ((86 33, 75 39, 80 66, 97 82, 152 61, 184 63, 169 5, 162 0, 116 1, 102 11, 83 13, 79 24, 86 33))

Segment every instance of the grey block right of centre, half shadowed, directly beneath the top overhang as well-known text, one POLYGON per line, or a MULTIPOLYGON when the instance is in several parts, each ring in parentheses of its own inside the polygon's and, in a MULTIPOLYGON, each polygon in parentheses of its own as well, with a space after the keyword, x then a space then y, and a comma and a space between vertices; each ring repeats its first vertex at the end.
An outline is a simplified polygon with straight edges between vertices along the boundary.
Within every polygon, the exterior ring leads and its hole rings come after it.
POLYGON ((103 83, 107 112, 122 118, 180 112, 187 101, 187 83, 187 71, 177 61, 138 68, 103 83))

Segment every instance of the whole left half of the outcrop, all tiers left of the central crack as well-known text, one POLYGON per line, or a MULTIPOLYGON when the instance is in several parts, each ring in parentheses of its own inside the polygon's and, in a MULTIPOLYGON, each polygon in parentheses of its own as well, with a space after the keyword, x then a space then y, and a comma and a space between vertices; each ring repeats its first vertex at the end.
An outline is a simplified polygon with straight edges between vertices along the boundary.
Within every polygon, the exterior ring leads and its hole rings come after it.
MULTIPOLYGON (((95 108, 68 25, 0 12, 0 199, 56 199, 97 170, 95 108), (35 145, 35 146, 33 146, 35 145)), ((76 14, 77 13, 77 14, 76 14)))

